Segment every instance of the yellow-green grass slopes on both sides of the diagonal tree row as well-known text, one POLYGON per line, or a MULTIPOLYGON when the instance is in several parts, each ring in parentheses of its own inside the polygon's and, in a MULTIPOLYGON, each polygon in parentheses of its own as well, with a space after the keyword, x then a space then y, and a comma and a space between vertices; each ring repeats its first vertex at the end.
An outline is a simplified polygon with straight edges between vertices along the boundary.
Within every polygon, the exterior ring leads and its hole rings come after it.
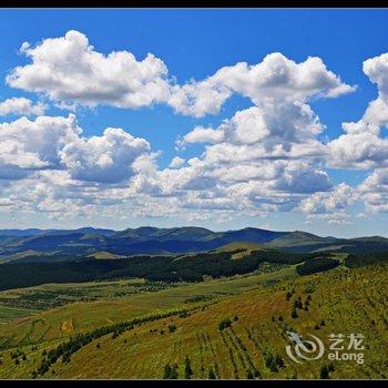
MULTIPOLYGON (((186 356, 193 370, 192 378, 208 378, 211 375, 228 379, 252 376, 264 379, 319 378, 323 366, 329 364, 328 359, 292 361, 285 351, 289 344, 287 330, 314 334, 325 344, 333 333, 363 334, 366 337, 365 364, 333 361, 334 370, 329 377, 387 378, 387 264, 356 269, 340 267, 304 277, 285 274, 282 269, 282 276, 272 273, 208 280, 133 295, 118 305, 112 305, 112 302, 106 302, 106 305, 99 305, 102 302, 76 303, 44 312, 33 319, 42 316, 48 323, 53 323, 50 319, 55 317, 55 323, 67 321, 64 326, 70 331, 88 330, 102 325, 110 314, 114 321, 120 321, 155 309, 187 307, 192 305, 185 303, 187 296, 225 293, 218 294, 207 305, 204 302, 203 308, 186 317, 174 315, 136 325, 119 336, 109 334, 94 339, 72 354, 70 363, 62 363, 60 358, 38 378, 163 378, 167 364, 176 364, 178 378, 185 378, 186 356), (279 282, 272 282, 275 279, 279 282), (287 293, 292 295, 288 299, 287 293), (292 317, 294 303, 299 297, 303 304, 310 298, 308 308, 296 308, 297 316, 292 317), (132 307, 125 310, 125 304, 132 307), (113 314, 115 310, 118 315, 113 314), (232 326, 219 330, 218 325, 225 318, 231 319, 232 326), (268 365, 270 355, 284 364, 277 367, 277 371, 268 365)), ((19 325, 25 330, 32 324, 19 321, 19 325)), ((13 334, 11 343, 20 341, 18 338, 22 335, 18 334, 16 325, 13 331, 7 325, 2 326, 2 336, 13 334)), ((35 334, 32 337, 37 339, 35 334)), ((24 357, 18 356, 18 363, 11 358, 11 353, 17 351, 14 347, 2 350, 0 378, 30 378, 41 364, 42 351, 54 348, 60 341, 58 334, 43 336, 37 346, 22 345, 28 341, 21 341, 18 350, 24 357)))

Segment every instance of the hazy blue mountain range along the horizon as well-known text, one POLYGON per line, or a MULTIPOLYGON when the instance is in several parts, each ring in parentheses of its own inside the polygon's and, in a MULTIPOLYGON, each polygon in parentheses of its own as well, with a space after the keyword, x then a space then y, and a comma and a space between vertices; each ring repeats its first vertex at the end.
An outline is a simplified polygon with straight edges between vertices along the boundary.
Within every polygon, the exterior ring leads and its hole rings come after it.
POLYGON ((213 232, 203 227, 125 231, 83 227, 78 229, 0 229, 0 262, 71 261, 103 253, 114 258, 139 254, 182 254, 217 249, 231 243, 255 243, 293 253, 319 251, 371 253, 388 251, 388 238, 320 237, 307 232, 274 232, 246 227, 213 232))

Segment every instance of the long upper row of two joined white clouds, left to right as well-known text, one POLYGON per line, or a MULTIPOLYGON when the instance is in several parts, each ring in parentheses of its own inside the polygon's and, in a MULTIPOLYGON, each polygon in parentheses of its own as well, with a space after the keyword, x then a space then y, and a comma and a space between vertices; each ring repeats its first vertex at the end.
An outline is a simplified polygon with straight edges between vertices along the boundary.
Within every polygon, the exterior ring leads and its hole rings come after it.
POLYGON ((205 80, 181 85, 172 81, 165 63, 152 53, 143 60, 125 50, 104 54, 74 30, 37 45, 24 42, 20 51, 30 63, 14 68, 7 83, 72 109, 74 104, 136 109, 164 103, 178 113, 201 118, 217 113, 233 94, 249 98, 259 106, 268 99, 306 102, 355 90, 329 71, 320 58, 309 57, 297 63, 279 52, 256 64, 239 62, 221 68, 205 80))

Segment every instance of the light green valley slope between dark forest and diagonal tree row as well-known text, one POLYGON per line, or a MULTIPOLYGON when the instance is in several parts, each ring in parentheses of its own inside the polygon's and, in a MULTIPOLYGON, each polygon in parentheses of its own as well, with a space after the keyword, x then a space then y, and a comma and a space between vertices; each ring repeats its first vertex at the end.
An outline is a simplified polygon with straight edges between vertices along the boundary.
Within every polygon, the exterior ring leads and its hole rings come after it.
MULTIPOLYGON (((79 331, 186 305, 194 297, 219 298, 258 284, 295 277, 295 268, 238 275, 203 283, 149 283, 144 279, 82 284, 49 284, 0 293, 0 306, 40 308, 41 313, 0 326, 0 347, 17 347, 71 336, 79 331), (67 321, 74 329, 61 330, 67 321)), ((201 300, 200 300, 201 302, 201 300)))

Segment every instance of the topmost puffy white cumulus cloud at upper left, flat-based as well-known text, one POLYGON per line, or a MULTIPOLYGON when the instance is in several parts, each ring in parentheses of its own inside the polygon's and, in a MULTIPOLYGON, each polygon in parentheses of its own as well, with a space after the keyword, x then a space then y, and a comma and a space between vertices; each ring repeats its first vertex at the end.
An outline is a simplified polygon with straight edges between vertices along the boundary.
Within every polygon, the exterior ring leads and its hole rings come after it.
POLYGON ((147 54, 137 61, 129 51, 105 55, 79 31, 44 39, 35 47, 23 43, 21 51, 31 63, 13 69, 7 83, 47 94, 53 101, 140 108, 169 96, 167 69, 162 60, 147 54))

